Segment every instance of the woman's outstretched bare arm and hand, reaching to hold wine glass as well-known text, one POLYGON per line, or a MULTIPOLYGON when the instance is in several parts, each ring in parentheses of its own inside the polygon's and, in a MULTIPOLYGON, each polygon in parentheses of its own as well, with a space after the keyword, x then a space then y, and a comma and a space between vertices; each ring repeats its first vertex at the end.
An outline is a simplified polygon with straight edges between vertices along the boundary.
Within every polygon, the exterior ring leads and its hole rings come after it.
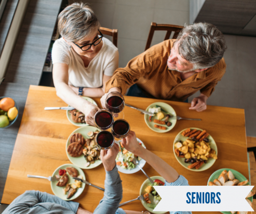
POLYGON ((85 114, 86 123, 94 126, 94 114, 100 109, 98 106, 77 95, 74 90, 68 86, 68 65, 65 63, 55 63, 53 64, 52 72, 57 96, 68 105, 73 106, 75 109, 83 112, 85 114))

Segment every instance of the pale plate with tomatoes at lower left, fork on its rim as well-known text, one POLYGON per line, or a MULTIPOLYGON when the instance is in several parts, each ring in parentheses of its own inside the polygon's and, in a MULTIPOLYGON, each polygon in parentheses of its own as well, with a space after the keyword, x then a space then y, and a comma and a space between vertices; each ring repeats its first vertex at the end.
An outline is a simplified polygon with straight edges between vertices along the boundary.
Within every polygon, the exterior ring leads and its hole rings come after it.
MULTIPOLYGON (((78 168, 78 167, 76 167, 76 166, 74 166, 73 164, 63 164, 63 165, 61 165, 60 167, 55 169, 55 171, 52 174, 52 177, 55 177, 55 175, 59 175, 59 170, 60 169, 65 169, 66 170, 66 168, 68 168, 68 167, 74 167, 75 169, 77 169, 77 171, 79 172, 79 175, 82 175, 83 179, 85 180, 85 175, 84 175, 83 170, 78 168)), ((75 184, 75 179, 73 179, 68 174, 68 172, 67 172, 67 175, 68 175, 68 183, 67 184, 75 184)), ((65 188, 66 185, 63 186, 63 187, 56 186, 57 183, 58 183, 58 181, 51 182, 52 192, 54 193, 54 195, 60 197, 60 199, 65 200, 65 201, 71 201, 71 200, 76 199, 79 195, 82 194, 82 192, 84 191, 84 187, 85 187, 85 183, 82 183, 82 187, 81 188, 77 188, 76 193, 70 199, 67 199, 68 193, 66 195, 64 195, 64 193, 63 193, 63 188, 65 188)))

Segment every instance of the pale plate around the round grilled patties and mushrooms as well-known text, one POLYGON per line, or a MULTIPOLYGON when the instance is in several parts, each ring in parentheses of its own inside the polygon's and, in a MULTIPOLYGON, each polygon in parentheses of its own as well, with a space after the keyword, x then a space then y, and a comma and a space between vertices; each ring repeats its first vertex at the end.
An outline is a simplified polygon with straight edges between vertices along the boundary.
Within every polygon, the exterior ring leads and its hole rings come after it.
MULTIPOLYGON (((69 154, 68 154, 68 146, 70 144, 70 137, 71 135, 73 135, 74 133, 80 133, 83 135, 83 137, 86 139, 86 138, 89 138, 89 136, 87 135, 87 133, 89 131, 100 131, 98 128, 94 127, 94 126, 86 126, 86 127, 81 127, 81 128, 78 128, 76 130, 73 131, 73 133, 71 133, 68 137, 68 140, 67 140, 67 143, 66 143, 66 153, 68 155, 68 159, 77 167, 79 168, 82 168, 82 169, 92 169, 92 168, 95 168, 95 167, 98 167, 102 161, 101 160, 95 160, 94 163, 91 163, 89 167, 86 167, 85 164, 87 163, 87 161, 85 160, 85 157, 84 157, 84 154, 82 154, 80 157, 77 157, 77 158, 74 158, 74 157, 71 157, 69 154)), ((83 146, 84 147, 84 146, 83 146)))

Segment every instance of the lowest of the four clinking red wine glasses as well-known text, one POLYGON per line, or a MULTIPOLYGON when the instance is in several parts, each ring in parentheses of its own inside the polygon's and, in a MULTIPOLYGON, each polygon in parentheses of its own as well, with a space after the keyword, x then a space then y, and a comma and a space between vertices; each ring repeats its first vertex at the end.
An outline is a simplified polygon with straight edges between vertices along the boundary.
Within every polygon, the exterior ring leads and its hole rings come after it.
POLYGON ((113 134, 109 131, 100 131, 95 136, 95 144, 99 150, 109 150, 115 143, 113 134))

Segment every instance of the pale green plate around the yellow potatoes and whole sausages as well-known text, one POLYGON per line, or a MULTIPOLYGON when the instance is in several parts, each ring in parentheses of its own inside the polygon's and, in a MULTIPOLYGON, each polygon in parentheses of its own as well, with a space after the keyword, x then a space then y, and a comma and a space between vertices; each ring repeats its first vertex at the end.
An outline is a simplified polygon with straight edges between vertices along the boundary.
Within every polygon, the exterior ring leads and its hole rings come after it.
MULTIPOLYGON (((190 129, 191 129, 191 130, 197 129, 197 130, 203 131, 203 129, 199 129, 199 128, 190 128, 190 129)), ((209 168, 215 163, 215 161, 216 161, 215 159, 209 158, 209 159, 207 160, 207 163, 204 163, 199 169, 195 169, 195 168, 189 169, 188 166, 189 166, 191 163, 185 163, 185 162, 184 162, 185 158, 180 158, 180 157, 178 157, 177 154, 175 153, 175 151, 174 151, 174 149, 175 149, 174 144, 177 143, 177 142, 179 142, 179 141, 182 141, 182 142, 183 142, 183 141, 185 141, 187 138, 189 138, 189 137, 185 137, 185 136, 182 136, 182 135, 181 135, 181 133, 182 133, 183 131, 185 131, 185 130, 186 130, 186 129, 183 129, 182 131, 180 131, 180 133, 179 133, 179 134, 175 137, 175 139, 174 139, 174 142, 173 142, 173 153, 174 153, 175 158, 178 160, 178 162, 181 164, 181 166, 183 166, 183 167, 185 167, 186 169, 191 170, 191 171, 204 171, 204 170, 206 170, 206 169, 209 169, 209 168)), ((211 135, 209 135, 207 138, 209 139, 209 143, 210 143, 211 148, 216 151, 216 155, 217 155, 217 157, 218 157, 217 145, 216 145, 214 139, 212 138, 211 135)))

